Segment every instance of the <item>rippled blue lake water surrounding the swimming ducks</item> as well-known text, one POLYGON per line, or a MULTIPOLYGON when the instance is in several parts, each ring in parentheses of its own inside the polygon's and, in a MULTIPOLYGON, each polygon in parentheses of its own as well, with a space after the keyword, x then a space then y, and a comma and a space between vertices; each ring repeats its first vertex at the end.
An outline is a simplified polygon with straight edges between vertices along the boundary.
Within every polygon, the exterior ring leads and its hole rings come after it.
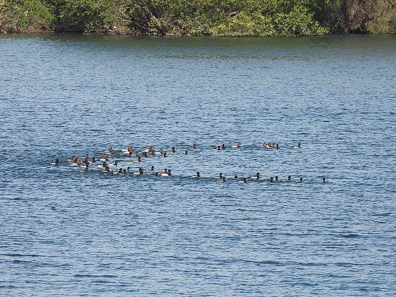
POLYGON ((396 36, 0 35, 0 107, 1 296, 395 295, 396 36))

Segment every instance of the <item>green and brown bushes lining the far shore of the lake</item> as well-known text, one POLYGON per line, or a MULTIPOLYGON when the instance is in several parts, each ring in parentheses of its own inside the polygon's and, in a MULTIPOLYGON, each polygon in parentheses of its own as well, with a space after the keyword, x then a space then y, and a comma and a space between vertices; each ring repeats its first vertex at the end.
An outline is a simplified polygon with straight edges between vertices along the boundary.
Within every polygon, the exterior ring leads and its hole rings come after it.
POLYGON ((0 33, 396 33, 396 0, 0 0, 0 33))

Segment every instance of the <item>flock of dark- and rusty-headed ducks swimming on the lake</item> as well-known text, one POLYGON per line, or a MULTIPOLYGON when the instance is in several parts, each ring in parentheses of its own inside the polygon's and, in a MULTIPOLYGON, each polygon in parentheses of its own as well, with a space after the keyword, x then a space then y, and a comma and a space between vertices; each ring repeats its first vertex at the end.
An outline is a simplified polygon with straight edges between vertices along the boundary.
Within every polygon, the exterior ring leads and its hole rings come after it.
MULTIPOLYGON (((240 148, 241 143, 238 142, 236 145, 230 146, 230 148, 240 148)), ((265 149, 279 149, 280 146, 279 144, 276 143, 263 143, 260 145, 260 147, 265 148, 265 149)), ((197 145, 189 145, 183 148, 182 152, 179 154, 184 154, 187 155, 189 153, 189 149, 196 149, 197 145)), ((301 143, 298 143, 297 145, 292 146, 292 148, 301 148, 301 143)), ((216 146, 213 148, 214 150, 222 150, 226 149, 226 145, 222 144, 221 146, 216 146)), ((90 155, 87 153, 81 159, 76 157, 76 155, 73 155, 71 158, 66 159, 66 162, 72 166, 77 166, 79 167, 79 172, 88 172, 89 170, 96 170, 99 172, 103 172, 108 174, 110 177, 114 177, 115 175, 143 175, 145 172, 150 172, 151 175, 153 176, 172 176, 172 169, 164 168, 163 171, 155 171, 154 172, 154 166, 150 166, 148 168, 143 168, 139 167, 136 171, 131 170, 131 166, 128 166, 131 163, 141 163, 142 158, 150 158, 152 156, 159 156, 162 158, 168 157, 170 154, 175 154, 176 148, 172 147, 170 150, 164 150, 160 148, 159 150, 155 150, 152 146, 149 146, 146 149, 143 149, 141 152, 139 151, 134 151, 134 149, 129 146, 127 149, 122 149, 116 151, 114 148, 109 148, 108 150, 105 150, 102 155, 98 158, 93 156, 90 158, 90 155), (112 160, 111 160, 112 159, 112 160), (121 167, 122 164, 125 164, 124 167, 121 167)), ((60 163, 59 159, 56 159, 54 162, 51 162, 51 165, 58 165, 60 163)), ((138 167, 138 166, 134 166, 138 167)), ((190 175, 190 178, 200 178, 201 174, 199 171, 197 171, 195 174, 190 175)), ((225 175, 220 172, 219 175, 213 177, 216 182, 226 182, 229 180, 228 178, 225 177, 225 175)), ((252 181, 264 181, 268 183, 273 183, 273 182, 289 182, 292 180, 292 176, 289 175, 286 178, 280 179, 278 176, 274 177, 269 177, 265 179, 261 179, 260 173, 257 172, 256 174, 252 176, 238 176, 234 175, 231 180, 236 181, 238 183, 247 183, 248 180, 252 181)), ((299 181, 302 182, 303 178, 300 177, 299 181)), ((326 177, 322 178, 322 181, 326 181, 326 177)))

